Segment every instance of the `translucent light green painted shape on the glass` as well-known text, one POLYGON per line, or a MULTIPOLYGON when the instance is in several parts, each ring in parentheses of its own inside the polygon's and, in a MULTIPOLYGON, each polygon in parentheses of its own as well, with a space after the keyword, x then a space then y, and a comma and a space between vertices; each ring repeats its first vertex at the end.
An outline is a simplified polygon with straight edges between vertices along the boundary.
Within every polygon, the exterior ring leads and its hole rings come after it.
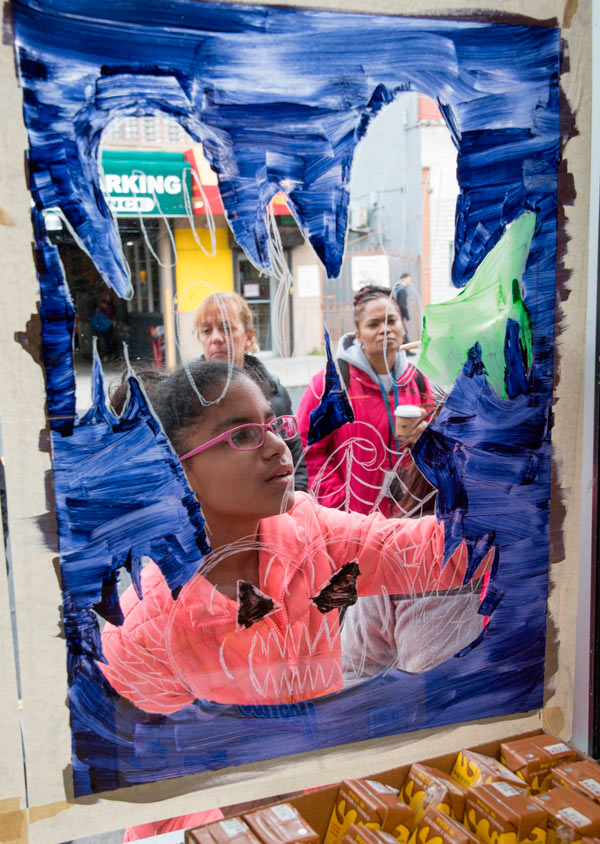
POLYGON ((521 277, 535 220, 532 211, 518 217, 455 299, 426 306, 419 369, 438 384, 453 384, 469 349, 479 343, 488 379, 498 395, 506 398, 504 339, 508 319, 519 324, 527 365, 531 365, 531 320, 522 298, 521 277))

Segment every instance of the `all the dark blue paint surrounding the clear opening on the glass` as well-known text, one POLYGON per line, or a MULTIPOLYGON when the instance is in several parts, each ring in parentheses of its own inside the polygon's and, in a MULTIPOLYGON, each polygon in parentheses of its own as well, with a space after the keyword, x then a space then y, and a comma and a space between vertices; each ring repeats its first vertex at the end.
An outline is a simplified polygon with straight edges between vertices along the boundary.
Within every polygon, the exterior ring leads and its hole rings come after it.
POLYGON ((35 204, 75 793, 538 708, 548 588, 559 30, 190 0, 14 0, 12 8, 35 204), (100 673, 93 610, 119 620, 119 573, 129 571, 139 591, 144 554, 176 594, 206 549, 202 518, 135 378, 117 418, 96 365, 93 407, 77 419, 73 308, 41 211, 60 207, 106 283, 127 295, 128 270, 99 185, 99 144, 116 117, 162 113, 203 144, 236 240, 255 262, 268 264, 266 208, 283 190, 336 276, 356 145, 377 112, 405 90, 438 102, 457 147, 457 287, 507 223, 528 209, 538 219, 522 279, 534 338, 530 371, 509 325, 509 398, 502 400, 473 348, 444 411, 415 449, 440 490, 446 553, 464 540, 472 572, 495 546, 489 595, 502 600, 476 647, 422 675, 392 672, 293 712, 206 701, 170 716, 141 712, 100 673), (77 469, 82 461, 85 472, 77 469), (163 500, 158 491, 165 488, 163 500))

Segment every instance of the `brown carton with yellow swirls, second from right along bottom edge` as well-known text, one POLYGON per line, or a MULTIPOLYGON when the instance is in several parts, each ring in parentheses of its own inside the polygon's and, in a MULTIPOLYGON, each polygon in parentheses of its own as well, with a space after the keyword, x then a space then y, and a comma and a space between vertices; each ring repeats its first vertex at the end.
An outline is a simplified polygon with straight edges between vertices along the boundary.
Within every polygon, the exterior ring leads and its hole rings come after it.
POLYGON ((491 782, 469 789, 465 826, 485 844, 545 844, 548 815, 526 789, 491 782))

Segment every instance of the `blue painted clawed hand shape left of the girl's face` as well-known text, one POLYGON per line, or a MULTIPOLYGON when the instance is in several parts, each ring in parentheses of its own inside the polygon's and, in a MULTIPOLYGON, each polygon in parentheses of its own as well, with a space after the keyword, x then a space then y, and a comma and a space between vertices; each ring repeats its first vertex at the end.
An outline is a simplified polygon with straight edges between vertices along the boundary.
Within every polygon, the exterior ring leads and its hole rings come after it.
POLYGON ((118 417, 106 406, 96 356, 93 407, 71 436, 53 438, 63 590, 75 611, 93 607, 116 624, 121 567, 139 588, 147 555, 175 592, 209 550, 200 507, 133 374, 129 389, 118 417))

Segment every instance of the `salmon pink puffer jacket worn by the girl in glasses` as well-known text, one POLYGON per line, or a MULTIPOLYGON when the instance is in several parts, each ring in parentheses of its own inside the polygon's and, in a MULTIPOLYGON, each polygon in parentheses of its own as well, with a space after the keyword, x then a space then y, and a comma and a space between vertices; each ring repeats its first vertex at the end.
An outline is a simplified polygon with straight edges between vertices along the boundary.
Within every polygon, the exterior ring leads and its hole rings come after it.
MULTIPOLYGON (((111 686, 156 713, 196 699, 277 704, 338 691, 339 614, 315 603, 323 590, 351 600, 352 576, 332 583, 333 575, 356 562, 359 596, 412 595, 460 586, 467 565, 463 544, 442 568, 444 528, 435 516, 345 513, 321 507, 306 493, 295 494, 289 512, 260 522, 258 547, 255 585, 275 610, 248 628, 237 623, 238 603, 202 574, 174 600, 158 566, 148 564, 143 599, 129 587, 121 597, 124 623, 107 624, 102 633, 108 665, 100 668, 111 686)), ((476 576, 489 571, 491 559, 492 552, 476 576)))

